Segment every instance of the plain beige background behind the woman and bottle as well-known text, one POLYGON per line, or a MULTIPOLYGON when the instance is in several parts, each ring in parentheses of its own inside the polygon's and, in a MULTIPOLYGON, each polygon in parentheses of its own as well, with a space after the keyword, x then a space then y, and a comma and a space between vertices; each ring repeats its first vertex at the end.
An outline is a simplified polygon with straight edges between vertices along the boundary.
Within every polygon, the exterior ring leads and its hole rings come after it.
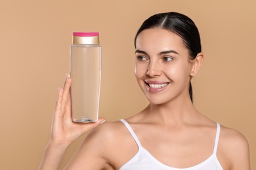
POLYGON ((73 31, 100 32, 100 116, 114 121, 143 109, 147 101, 133 76, 133 38, 146 18, 168 11, 190 16, 200 29, 205 62, 192 82, 196 107, 247 137, 256 169, 255 7, 255 0, 2 0, 0 169, 37 169, 58 86, 69 71, 73 31))

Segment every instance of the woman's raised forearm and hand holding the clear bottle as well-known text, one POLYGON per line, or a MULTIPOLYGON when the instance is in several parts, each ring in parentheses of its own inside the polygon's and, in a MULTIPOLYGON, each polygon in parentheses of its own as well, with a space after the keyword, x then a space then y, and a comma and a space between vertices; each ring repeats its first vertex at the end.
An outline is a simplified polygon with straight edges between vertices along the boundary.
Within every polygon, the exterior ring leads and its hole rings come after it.
POLYGON ((51 137, 39 165, 40 170, 58 169, 66 148, 78 137, 104 122, 103 118, 99 118, 98 122, 89 124, 72 122, 71 82, 70 75, 67 75, 64 87, 58 90, 51 137))

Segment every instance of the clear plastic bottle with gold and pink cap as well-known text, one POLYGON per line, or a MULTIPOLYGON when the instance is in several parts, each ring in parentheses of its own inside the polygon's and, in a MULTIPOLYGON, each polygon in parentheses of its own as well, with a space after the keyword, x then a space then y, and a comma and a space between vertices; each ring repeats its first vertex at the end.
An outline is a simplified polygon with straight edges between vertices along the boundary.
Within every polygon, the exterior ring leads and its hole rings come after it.
POLYGON ((98 33, 73 33, 70 46, 72 120, 98 121, 101 46, 98 33))

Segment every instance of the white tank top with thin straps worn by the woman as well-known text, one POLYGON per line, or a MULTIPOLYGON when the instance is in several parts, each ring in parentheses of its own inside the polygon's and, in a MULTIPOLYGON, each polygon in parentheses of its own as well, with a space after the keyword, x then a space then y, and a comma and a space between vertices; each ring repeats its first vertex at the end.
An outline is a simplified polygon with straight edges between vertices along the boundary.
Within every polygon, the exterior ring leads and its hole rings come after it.
POLYGON ((223 167, 221 167, 221 163, 219 163, 216 152, 217 152, 217 146, 219 141, 219 133, 221 131, 221 127, 219 123, 217 123, 217 133, 215 137, 215 145, 213 149, 213 154, 207 160, 198 163, 197 165, 194 165, 192 167, 187 168, 175 168, 175 167, 169 167, 160 161, 156 160, 148 150, 143 148, 143 146, 140 144, 140 141, 138 137, 135 135, 133 129, 129 124, 121 119, 121 122, 125 124, 131 135, 133 136, 133 139, 137 143, 139 150, 131 160, 127 161, 120 170, 223 170, 223 167))

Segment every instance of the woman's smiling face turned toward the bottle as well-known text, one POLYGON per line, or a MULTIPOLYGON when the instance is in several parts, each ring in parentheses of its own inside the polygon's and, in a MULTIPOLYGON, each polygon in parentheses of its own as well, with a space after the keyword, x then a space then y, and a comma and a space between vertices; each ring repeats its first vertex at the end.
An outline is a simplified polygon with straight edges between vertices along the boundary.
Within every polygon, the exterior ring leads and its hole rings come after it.
POLYGON ((192 62, 181 37, 165 29, 142 31, 136 40, 135 76, 150 103, 189 97, 192 62))

